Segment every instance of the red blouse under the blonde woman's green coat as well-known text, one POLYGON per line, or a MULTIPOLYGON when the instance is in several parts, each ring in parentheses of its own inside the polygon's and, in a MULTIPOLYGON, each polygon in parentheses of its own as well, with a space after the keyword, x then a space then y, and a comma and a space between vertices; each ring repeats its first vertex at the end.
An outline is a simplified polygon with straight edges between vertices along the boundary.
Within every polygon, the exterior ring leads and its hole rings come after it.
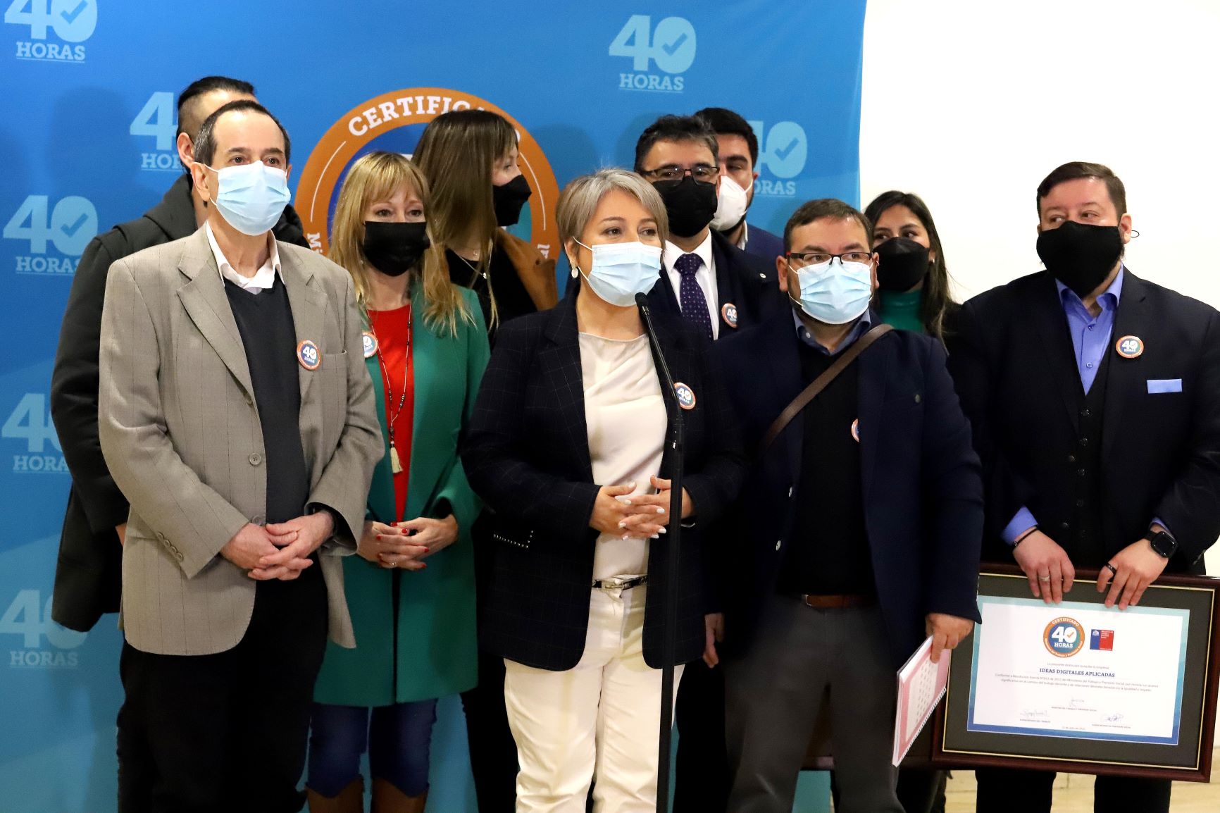
POLYGON ((415 420, 415 358, 409 352, 411 306, 370 310, 368 325, 377 337, 378 367, 386 393, 386 428, 403 465, 403 470, 394 475, 394 521, 403 521, 412 519, 403 516, 407 476, 411 474, 411 425, 415 420))

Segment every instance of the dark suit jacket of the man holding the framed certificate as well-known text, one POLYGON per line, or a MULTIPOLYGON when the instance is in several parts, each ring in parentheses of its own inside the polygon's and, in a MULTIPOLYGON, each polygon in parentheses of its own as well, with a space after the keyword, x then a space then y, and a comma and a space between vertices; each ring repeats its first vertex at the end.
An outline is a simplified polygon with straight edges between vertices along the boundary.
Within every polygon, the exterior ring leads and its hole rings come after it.
MULTIPOLYGON (((1039 271, 975 297, 959 320, 950 366, 983 461, 989 559, 1011 560, 1000 531, 1022 505, 1052 538, 1071 519, 1061 455, 1078 437, 1082 388, 1060 302, 1054 278, 1039 271)), ((1104 553, 1160 518, 1179 542, 1169 569, 1202 573, 1203 552, 1220 535, 1220 314, 1127 269, 1108 353, 1104 553), (1124 336, 1143 339, 1143 354, 1119 355, 1124 336), (1150 394, 1147 382, 1158 378, 1181 378, 1181 392, 1150 394)), ((1077 566, 1105 564, 1077 560, 1069 540, 1055 541, 1077 566)))

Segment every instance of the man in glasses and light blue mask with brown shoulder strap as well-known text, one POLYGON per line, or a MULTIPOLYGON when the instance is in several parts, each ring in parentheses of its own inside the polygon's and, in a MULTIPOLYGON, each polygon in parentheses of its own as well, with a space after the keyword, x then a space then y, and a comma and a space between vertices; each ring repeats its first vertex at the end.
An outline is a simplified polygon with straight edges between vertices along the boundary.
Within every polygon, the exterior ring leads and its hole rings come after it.
POLYGON ((938 660, 978 620, 981 466, 942 344, 874 327, 867 219, 813 200, 783 240, 791 309, 716 344, 725 380, 741 385, 727 392, 745 448, 758 450, 716 557, 733 585, 720 645, 728 809, 792 811, 828 714, 838 809, 903 813, 894 673, 925 637, 938 660), (871 343, 776 433, 856 342, 871 343))

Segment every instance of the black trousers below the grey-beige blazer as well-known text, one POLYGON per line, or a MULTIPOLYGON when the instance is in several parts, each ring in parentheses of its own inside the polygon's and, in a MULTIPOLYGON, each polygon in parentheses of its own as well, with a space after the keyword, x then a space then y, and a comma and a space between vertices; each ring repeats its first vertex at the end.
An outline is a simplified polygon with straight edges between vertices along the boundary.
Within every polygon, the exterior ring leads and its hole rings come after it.
POLYGON ((162 656, 124 642, 124 728, 146 747, 121 747, 118 770, 142 778, 148 798, 121 800, 120 813, 299 811, 326 631, 315 565, 296 581, 259 584, 250 626, 232 649, 162 656))

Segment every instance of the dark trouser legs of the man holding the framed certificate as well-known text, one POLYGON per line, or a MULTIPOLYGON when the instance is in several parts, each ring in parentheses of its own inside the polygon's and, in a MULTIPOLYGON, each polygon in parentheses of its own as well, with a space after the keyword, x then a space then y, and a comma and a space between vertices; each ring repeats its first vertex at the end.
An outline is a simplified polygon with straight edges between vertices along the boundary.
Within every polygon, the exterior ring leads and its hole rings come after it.
MULTIPOLYGON (((975 776, 978 779, 977 813, 1050 813, 1053 771, 980 768, 975 776)), ((1169 813, 1171 787, 1168 779, 1098 776, 1093 785, 1093 811, 1169 813)))

